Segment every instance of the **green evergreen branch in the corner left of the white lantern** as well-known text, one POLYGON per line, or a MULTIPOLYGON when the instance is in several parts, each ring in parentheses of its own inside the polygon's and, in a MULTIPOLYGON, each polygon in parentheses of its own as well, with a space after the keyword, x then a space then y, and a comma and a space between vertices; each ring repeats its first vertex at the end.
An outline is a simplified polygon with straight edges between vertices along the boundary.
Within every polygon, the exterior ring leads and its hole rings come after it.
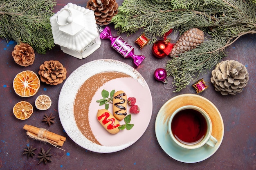
POLYGON ((54 40, 49 18, 54 15, 55 0, 2 0, 0 2, 0 38, 26 42, 38 53, 52 49, 54 40))

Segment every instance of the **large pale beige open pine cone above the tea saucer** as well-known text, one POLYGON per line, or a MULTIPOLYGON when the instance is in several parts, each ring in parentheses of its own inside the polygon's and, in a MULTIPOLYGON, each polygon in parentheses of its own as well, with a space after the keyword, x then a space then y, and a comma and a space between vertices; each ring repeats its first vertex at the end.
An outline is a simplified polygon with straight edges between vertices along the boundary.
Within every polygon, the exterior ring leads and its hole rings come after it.
POLYGON ((211 75, 211 82, 215 90, 220 91, 222 95, 241 93, 249 80, 246 67, 234 60, 218 63, 211 75))

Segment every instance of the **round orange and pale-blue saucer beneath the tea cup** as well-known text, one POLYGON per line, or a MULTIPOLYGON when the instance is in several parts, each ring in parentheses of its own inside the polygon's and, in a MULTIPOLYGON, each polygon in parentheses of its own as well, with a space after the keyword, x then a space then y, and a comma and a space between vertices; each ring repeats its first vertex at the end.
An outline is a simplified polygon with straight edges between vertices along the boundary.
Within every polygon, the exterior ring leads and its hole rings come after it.
POLYGON ((195 163, 211 157, 218 150, 224 136, 224 124, 220 112, 208 99, 199 95, 183 94, 169 99, 160 108, 155 121, 155 133, 159 145, 167 155, 177 161, 195 163), (171 117, 174 110, 186 105, 194 105, 202 108, 211 118, 213 126, 212 136, 218 140, 214 148, 208 145, 197 149, 181 148, 169 136, 167 128, 169 117, 171 117))

